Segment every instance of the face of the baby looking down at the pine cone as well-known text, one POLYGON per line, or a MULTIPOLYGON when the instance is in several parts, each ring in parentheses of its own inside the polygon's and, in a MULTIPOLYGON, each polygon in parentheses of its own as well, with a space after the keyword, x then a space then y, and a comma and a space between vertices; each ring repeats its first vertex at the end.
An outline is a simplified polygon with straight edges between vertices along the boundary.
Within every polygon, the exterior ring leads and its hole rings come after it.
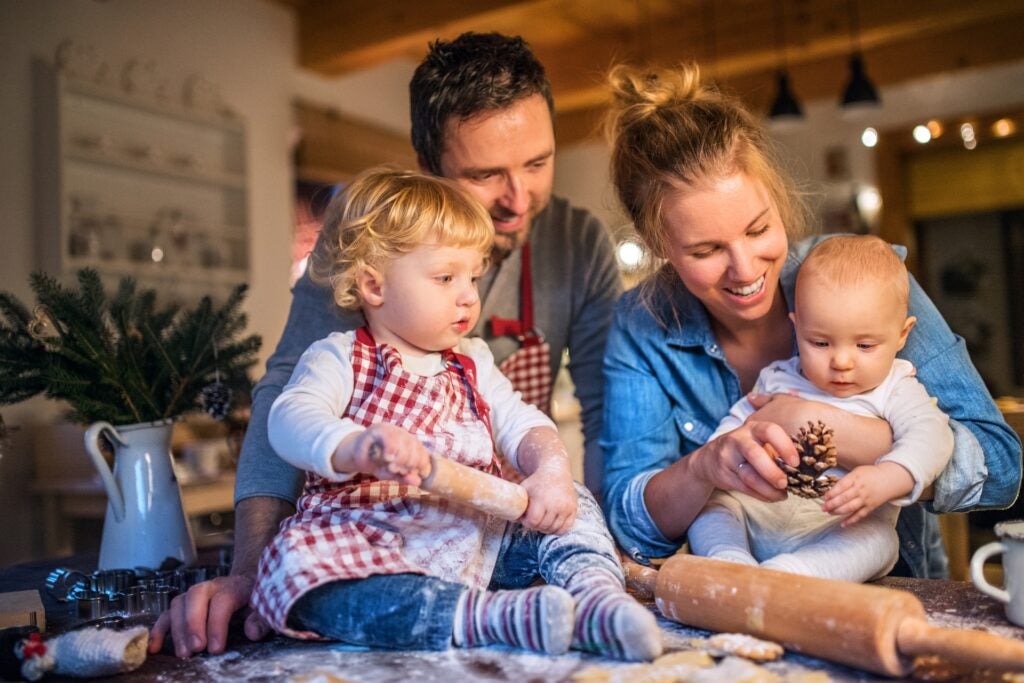
POLYGON ((882 384, 914 323, 883 284, 841 288, 818 279, 800 283, 792 316, 801 372, 841 398, 882 384))

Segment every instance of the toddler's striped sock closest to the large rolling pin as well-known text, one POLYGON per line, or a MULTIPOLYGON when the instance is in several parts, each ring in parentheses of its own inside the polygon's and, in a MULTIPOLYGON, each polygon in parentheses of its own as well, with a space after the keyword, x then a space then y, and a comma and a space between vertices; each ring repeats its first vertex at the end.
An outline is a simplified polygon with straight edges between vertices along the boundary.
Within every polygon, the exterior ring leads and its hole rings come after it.
POLYGON ((577 603, 573 648, 638 661, 662 654, 657 620, 626 593, 615 574, 587 569, 573 574, 565 589, 577 603))

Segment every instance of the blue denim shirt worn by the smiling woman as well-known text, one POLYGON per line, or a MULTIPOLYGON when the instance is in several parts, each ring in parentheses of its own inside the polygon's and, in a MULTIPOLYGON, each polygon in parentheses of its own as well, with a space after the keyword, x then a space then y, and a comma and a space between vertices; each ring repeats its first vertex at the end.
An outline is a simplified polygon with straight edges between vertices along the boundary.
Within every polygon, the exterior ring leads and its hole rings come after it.
MULTIPOLYGON (((780 276, 791 309, 797 270, 822 239, 791 245, 780 276)), ((666 538, 654 524, 644 503, 647 482, 703 445, 742 396, 707 310, 670 274, 647 301, 640 288, 620 300, 604 356, 605 513, 615 540, 642 563, 675 553, 685 541, 666 538)), ((899 357, 913 364, 918 379, 938 398, 955 442, 935 481, 934 501, 904 508, 897 524, 900 555, 910 571, 935 577, 946 571, 945 555, 937 519, 928 513, 1012 505, 1020 488, 1021 442, 971 364, 964 340, 913 278, 909 314, 918 323, 899 357)))

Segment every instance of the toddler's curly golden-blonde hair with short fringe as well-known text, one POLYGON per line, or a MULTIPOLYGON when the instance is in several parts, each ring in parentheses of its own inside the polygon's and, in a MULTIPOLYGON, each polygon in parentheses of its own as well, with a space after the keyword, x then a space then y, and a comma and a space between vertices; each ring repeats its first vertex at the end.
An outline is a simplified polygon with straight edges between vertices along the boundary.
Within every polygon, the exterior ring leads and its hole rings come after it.
POLYGON ((356 279, 423 244, 465 247, 486 257, 494 242, 490 216, 451 180, 377 167, 360 173, 325 212, 309 255, 313 282, 330 286, 341 308, 360 305, 356 279))

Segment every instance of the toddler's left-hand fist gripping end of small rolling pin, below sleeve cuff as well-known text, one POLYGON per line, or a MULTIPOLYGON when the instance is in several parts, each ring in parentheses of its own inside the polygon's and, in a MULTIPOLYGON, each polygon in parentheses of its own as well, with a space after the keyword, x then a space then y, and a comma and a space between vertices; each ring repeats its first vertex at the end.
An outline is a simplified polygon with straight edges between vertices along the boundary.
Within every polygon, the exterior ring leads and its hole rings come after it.
MULTIPOLYGON (((338 451, 346 445, 350 449, 351 469, 356 472, 411 486, 419 486, 423 478, 430 474, 430 454, 420 439, 401 427, 376 424, 342 441, 338 451)), ((335 458, 338 457, 336 453, 335 458)), ((339 469, 337 465, 335 467, 339 469)))

